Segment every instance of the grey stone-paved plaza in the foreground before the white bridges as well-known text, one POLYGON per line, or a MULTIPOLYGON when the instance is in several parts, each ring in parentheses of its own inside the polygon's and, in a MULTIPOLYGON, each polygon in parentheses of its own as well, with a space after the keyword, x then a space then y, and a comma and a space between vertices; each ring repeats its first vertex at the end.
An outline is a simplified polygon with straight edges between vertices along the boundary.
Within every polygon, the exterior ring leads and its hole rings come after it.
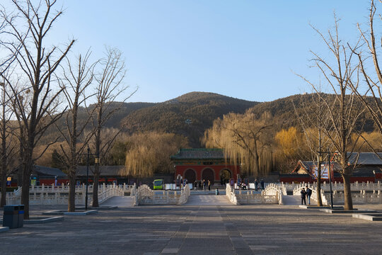
MULTIPOLYGON (((382 222, 298 205, 222 204, 125 206, 24 225, 0 233, 0 254, 381 254, 382 222)), ((31 217, 53 209, 65 207, 31 206, 31 217)))

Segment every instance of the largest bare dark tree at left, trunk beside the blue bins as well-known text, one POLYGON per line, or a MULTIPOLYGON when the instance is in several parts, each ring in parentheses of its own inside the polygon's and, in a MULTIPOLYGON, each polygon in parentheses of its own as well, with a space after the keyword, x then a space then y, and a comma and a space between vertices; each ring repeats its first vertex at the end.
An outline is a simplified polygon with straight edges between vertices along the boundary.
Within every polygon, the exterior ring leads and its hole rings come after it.
POLYGON ((16 56, 15 62, 22 72, 20 75, 23 76, 25 87, 30 88, 23 96, 20 96, 18 95, 20 91, 11 87, 16 117, 21 128, 23 171, 21 203, 25 205, 24 217, 28 219, 29 176, 36 159, 33 157, 33 149, 47 128, 62 116, 62 113, 53 115, 59 111, 57 98, 62 93, 62 89, 54 91, 53 74, 71 49, 74 40, 71 40, 63 50, 56 46, 45 47, 45 38, 54 22, 62 15, 62 10, 53 10, 55 0, 45 0, 36 5, 30 0, 23 2, 12 0, 11 3, 18 15, 14 20, 10 19, 4 11, 1 12, 1 18, 8 26, 7 35, 10 38, 8 43, 3 45, 6 45, 11 55, 16 56), (21 48, 18 45, 21 45, 21 48), (28 101, 25 98, 28 98, 28 101))

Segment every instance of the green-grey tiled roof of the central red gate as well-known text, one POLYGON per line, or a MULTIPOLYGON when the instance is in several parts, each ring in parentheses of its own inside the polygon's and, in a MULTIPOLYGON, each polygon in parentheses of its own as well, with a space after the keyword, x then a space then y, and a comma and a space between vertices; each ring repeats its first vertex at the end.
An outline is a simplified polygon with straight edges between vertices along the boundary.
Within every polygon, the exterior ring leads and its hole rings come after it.
POLYGON ((171 159, 224 159, 223 149, 180 149, 171 159))

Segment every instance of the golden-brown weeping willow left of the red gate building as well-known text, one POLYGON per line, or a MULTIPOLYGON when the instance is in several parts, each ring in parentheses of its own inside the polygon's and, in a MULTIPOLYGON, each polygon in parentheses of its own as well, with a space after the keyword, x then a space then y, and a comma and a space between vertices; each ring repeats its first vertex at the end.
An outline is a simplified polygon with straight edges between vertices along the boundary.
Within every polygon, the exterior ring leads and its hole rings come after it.
POLYGON ((170 156, 188 145, 186 137, 164 132, 137 133, 128 137, 126 143, 125 174, 137 178, 172 173, 170 156))

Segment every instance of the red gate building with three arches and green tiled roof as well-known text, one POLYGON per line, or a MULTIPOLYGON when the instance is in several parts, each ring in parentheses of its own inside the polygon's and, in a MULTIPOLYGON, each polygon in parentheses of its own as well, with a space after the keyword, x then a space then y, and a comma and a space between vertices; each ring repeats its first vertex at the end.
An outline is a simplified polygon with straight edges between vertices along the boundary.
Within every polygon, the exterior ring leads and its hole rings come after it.
POLYGON ((195 181, 211 181, 211 183, 236 182, 240 174, 240 166, 232 165, 224 158, 223 149, 180 149, 171 156, 175 167, 175 179, 195 181))

